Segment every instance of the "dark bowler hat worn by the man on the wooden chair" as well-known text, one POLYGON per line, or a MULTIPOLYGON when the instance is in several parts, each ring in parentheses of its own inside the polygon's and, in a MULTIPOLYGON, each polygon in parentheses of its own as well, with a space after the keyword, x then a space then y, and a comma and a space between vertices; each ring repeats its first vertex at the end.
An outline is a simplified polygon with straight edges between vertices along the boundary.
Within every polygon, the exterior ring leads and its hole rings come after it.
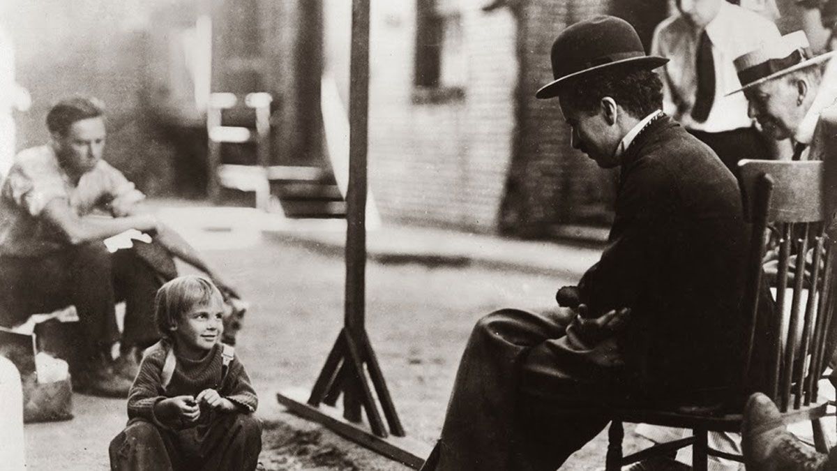
POLYGON ((562 83, 614 65, 637 65, 656 69, 668 59, 645 55, 639 34, 627 21, 597 16, 575 23, 552 43, 552 75, 555 80, 538 90, 537 98, 557 96, 562 83))

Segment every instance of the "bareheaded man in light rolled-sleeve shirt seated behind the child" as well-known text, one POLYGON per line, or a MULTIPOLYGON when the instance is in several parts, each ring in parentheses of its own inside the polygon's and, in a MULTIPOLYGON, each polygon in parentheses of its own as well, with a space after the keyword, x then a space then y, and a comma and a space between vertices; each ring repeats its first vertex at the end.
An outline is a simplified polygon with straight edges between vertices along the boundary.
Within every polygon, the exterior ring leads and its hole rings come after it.
POLYGON ((0 189, 0 325, 74 305, 81 363, 72 371, 74 389, 124 397, 138 350, 160 337, 153 300, 176 274, 172 256, 206 272, 225 295, 237 295, 143 208, 145 196, 134 184, 102 160, 107 132, 95 99, 60 101, 46 123, 49 143, 18 153, 0 189), (102 241, 131 229, 154 235, 155 243, 110 254, 102 241), (117 301, 126 302, 121 338, 117 301), (120 339, 122 355, 114 362, 110 351, 120 339))

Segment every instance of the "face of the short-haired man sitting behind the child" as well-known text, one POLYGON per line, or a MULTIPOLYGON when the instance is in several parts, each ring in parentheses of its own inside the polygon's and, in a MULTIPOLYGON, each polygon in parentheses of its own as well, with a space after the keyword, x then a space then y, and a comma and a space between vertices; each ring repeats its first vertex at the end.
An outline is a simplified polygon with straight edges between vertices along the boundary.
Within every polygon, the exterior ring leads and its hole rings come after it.
POLYGON ((105 150, 105 120, 101 116, 74 122, 65 135, 53 134, 61 163, 77 175, 90 172, 105 150))

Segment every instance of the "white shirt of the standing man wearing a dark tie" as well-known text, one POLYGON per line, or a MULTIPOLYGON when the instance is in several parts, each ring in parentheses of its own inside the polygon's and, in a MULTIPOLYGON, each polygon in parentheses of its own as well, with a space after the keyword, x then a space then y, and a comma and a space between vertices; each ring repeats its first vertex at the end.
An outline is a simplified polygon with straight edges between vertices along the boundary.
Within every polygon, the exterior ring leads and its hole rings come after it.
POLYGON ((776 25, 746 8, 721 2, 721 9, 706 26, 715 62, 715 100, 706 122, 691 117, 697 92, 697 49, 701 30, 696 30, 678 14, 657 26, 651 54, 669 59, 658 69, 663 81, 663 111, 687 129, 702 132, 725 132, 752 126, 747 116, 743 93, 727 96, 741 87, 732 61, 757 49, 766 39, 779 36, 776 25))

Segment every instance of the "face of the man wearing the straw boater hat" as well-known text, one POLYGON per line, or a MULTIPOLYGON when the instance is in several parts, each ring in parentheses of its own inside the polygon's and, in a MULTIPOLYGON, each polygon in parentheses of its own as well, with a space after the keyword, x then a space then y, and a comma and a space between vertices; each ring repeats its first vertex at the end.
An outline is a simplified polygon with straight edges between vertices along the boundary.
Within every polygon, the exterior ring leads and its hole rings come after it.
POLYGON ((747 114, 755 119, 769 137, 781 141, 793 137, 804 113, 798 103, 798 89, 792 82, 768 80, 744 91, 747 114))

